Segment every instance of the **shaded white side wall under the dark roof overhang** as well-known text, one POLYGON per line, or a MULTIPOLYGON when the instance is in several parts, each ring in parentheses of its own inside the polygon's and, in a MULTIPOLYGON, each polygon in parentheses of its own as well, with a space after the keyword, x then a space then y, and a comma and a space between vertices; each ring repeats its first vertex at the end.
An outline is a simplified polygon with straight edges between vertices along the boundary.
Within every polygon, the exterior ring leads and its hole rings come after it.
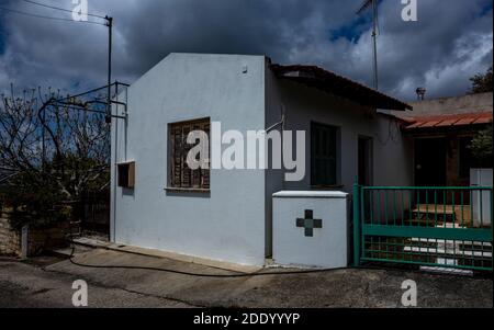
MULTIPOLYGON (((301 182, 287 182, 284 190, 311 190, 311 122, 337 126, 340 129, 338 190, 350 193, 358 173, 358 138, 373 138, 373 184, 412 185, 412 140, 403 137, 398 122, 385 114, 326 92, 287 80, 276 80, 268 87, 287 110, 289 130, 305 130, 306 174, 301 182)), ((268 104, 270 105, 270 104, 268 104)), ((279 113, 277 104, 267 109, 279 113)), ((269 182, 268 186, 277 185, 269 182)), ((280 184, 278 184, 280 186, 280 184)))

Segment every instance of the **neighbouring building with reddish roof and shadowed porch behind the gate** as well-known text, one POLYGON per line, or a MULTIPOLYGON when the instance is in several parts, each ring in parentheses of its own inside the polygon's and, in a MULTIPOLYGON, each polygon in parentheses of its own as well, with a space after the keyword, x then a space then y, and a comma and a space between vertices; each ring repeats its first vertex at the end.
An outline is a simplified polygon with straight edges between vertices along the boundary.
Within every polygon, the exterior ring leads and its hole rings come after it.
POLYGON ((493 93, 424 100, 413 112, 393 112, 404 120, 403 132, 414 144, 414 184, 468 186, 470 169, 491 168, 491 159, 475 159, 470 145, 492 125, 493 93))

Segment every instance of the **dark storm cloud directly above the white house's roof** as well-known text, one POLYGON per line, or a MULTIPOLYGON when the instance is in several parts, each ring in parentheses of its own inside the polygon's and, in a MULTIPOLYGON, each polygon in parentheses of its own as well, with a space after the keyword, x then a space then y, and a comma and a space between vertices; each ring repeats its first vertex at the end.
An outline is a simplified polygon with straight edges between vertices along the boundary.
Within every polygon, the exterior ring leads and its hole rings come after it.
POLYGON ((348 15, 352 9, 335 1, 148 0, 136 10, 122 21, 121 31, 128 59, 139 59, 131 67, 142 72, 170 52, 265 54, 285 60, 292 47, 345 23, 335 15, 323 27, 323 13, 348 15))

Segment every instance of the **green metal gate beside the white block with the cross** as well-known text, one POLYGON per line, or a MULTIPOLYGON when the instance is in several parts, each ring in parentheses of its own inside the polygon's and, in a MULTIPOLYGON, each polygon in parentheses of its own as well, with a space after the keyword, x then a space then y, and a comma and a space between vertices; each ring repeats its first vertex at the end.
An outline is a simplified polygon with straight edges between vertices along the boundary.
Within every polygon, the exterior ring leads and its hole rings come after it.
POLYGON ((353 185, 353 262, 493 270, 493 189, 353 185))

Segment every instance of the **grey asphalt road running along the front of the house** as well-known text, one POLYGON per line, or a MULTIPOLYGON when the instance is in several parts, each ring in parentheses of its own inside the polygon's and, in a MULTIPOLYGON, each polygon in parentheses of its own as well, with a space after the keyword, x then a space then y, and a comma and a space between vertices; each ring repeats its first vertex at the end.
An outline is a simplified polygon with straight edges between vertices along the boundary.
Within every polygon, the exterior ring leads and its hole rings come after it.
MULTIPOLYGON (((199 264, 116 251, 79 253, 81 263, 144 265, 231 274, 199 264)), ((44 266, 0 260, 0 307, 72 307, 72 282, 88 283, 89 307, 403 307, 402 283, 417 284, 417 307, 493 306, 491 278, 389 270, 216 278, 177 273, 80 268, 55 260, 44 266)))

